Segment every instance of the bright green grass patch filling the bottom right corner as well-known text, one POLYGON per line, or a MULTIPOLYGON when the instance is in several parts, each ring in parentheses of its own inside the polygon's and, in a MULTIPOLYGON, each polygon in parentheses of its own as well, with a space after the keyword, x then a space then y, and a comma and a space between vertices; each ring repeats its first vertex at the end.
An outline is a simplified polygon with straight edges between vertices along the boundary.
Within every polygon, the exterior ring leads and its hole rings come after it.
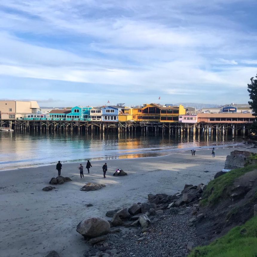
POLYGON ((257 257, 257 216, 213 243, 196 247, 188 257, 257 257))

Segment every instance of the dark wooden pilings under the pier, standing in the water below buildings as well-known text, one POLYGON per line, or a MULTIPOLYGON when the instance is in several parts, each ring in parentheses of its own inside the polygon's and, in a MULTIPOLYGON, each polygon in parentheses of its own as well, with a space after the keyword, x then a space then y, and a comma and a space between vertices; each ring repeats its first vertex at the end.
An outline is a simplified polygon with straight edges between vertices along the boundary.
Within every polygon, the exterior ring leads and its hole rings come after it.
POLYGON ((44 133, 122 133, 142 135, 173 134, 230 134, 245 136, 251 123, 163 123, 163 122, 105 122, 65 120, 0 120, 0 127, 15 131, 38 131, 44 133))

